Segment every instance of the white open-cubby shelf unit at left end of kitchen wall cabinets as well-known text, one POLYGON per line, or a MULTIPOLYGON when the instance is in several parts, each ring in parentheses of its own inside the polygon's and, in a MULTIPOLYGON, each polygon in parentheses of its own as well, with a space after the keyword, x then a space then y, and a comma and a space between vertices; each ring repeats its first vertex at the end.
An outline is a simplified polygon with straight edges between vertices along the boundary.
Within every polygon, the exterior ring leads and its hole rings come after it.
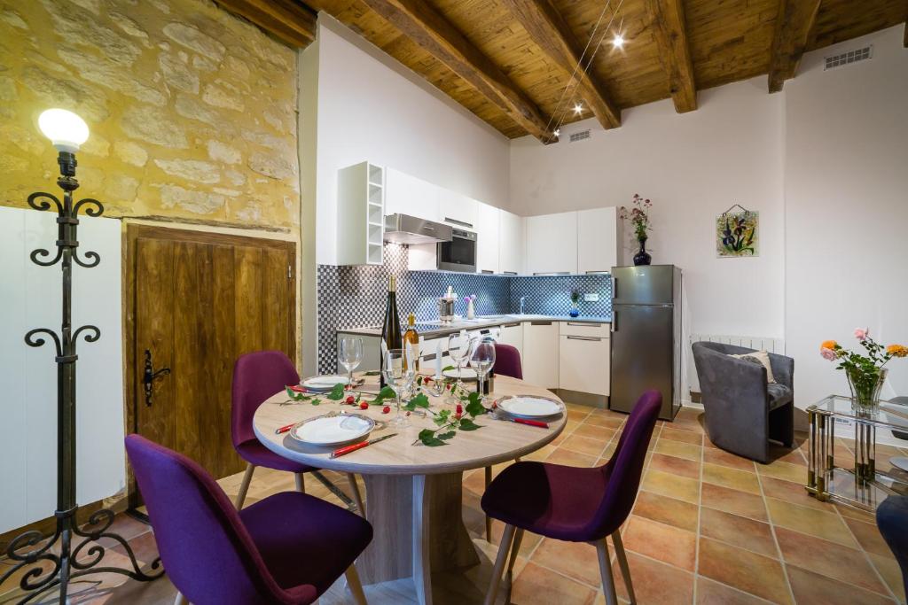
POLYGON ((384 262, 385 171, 368 161, 338 171, 338 264, 384 262))

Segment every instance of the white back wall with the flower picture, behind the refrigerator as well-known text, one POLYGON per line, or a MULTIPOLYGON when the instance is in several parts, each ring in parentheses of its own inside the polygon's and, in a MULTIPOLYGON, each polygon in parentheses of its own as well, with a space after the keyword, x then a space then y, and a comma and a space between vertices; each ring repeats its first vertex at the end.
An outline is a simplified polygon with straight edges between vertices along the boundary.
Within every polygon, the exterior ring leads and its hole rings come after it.
MULTIPOLYGON (((781 337, 782 97, 767 94, 761 77, 703 91, 699 105, 684 114, 671 100, 626 110, 611 131, 586 120, 548 146, 512 141, 512 209, 537 215, 648 197, 655 206, 647 249, 654 263, 684 269, 691 330, 781 337), (584 128, 593 131, 589 140, 566 142, 584 128), (760 211, 758 258, 716 258, 716 215, 735 202, 760 211)), ((625 262, 632 256, 628 248, 625 262)))

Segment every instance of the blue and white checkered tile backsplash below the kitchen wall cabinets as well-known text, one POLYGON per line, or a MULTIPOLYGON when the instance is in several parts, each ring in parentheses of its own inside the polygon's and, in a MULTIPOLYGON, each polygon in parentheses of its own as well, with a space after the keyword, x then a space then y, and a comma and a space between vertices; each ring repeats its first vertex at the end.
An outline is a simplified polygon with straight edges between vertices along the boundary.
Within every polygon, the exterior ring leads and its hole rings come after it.
POLYGON ((611 278, 607 275, 508 277, 438 271, 409 271, 406 246, 385 245, 383 266, 319 265, 319 371, 333 372, 337 366, 336 336, 346 327, 380 326, 385 312, 388 279, 398 279, 400 325, 406 326, 412 312, 417 321, 438 319, 436 299, 450 286, 459 295, 455 305, 459 315, 467 314, 462 298, 476 295, 477 315, 518 313, 520 297, 526 297, 524 313, 566 316, 570 310, 570 293, 577 289, 581 296, 596 292, 597 302, 584 302, 578 307, 581 317, 612 315, 611 278))

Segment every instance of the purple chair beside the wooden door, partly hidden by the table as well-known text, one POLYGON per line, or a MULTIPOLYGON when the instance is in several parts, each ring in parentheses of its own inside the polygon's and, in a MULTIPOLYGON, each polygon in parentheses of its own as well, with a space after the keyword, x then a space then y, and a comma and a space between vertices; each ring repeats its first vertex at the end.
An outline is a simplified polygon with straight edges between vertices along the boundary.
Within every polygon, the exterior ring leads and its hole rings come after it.
MULTIPOLYGON (((256 466, 287 471, 294 473, 296 489, 305 493, 306 487, 302 473, 317 470, 306 464, 295 463, 281 455, 274 454, 262 445, 252 430, 252 416, 266 399, 282 391, 287 385, 299 385, 300 375, 290 358, 282 351, 257 351, 248 353, 236 360, 233 366, 233 390, 231 408, 231 433, 233 449, 246 461, 246 473, 242 476, 240 493, 236 496, 236 508, 242 509, 242 503, 249 492, 249 483, 252 482, 252 473, 256 466)), ((362 504, 360 488, 356 484, 356 477, 347 474, 350 482, 350 491, 360 514, 365 517, 366 511, 362 504)))

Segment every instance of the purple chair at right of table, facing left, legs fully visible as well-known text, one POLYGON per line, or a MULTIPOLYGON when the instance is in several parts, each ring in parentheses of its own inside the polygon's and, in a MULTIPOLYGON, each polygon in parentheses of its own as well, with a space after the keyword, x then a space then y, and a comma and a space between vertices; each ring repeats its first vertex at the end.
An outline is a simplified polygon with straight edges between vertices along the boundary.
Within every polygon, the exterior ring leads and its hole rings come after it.
POLYGON ((556 540, 594 544, 606 603, 613 605, 617 597, 606 544, 610 535, 627 595, 635 602, 618 530, 637 498, 646 447, 661 405, 662 395, 658 391, 646 391, 627 419, 615 454, 598 468, 522 462, 508 466, 495 478, 482 496, 482 510, 506 525, 486 594, 487 605, 495 602, 508 551, 511 553, 508 572, 514 569, 524 531, 556 540))

